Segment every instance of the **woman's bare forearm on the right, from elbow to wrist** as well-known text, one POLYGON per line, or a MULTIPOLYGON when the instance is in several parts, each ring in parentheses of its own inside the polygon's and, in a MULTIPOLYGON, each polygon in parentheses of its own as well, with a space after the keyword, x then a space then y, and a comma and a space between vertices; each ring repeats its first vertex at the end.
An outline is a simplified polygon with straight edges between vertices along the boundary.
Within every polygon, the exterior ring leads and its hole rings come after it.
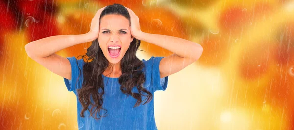
POLYGON ((158 45, 184 58, 192 58, 197 60, 203 51, 203 48, 200 44, 178 37, 150 34, 145 32, 142 32, 137 37, 140 40, 158 45))

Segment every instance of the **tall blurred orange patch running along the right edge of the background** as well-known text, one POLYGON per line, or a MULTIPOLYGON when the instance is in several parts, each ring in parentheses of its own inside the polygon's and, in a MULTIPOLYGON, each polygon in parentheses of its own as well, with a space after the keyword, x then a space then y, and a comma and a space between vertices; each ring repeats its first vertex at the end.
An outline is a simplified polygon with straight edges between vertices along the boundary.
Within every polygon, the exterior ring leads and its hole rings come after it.
MULTIPOLYGON (((294 108, 294 23, 288 22, 278 32, 278 45, 275 48, 276 68, 268 84, 268 98, 272 104, 294 108)), ((291 111, 293 112, 293 111, 291 111)))

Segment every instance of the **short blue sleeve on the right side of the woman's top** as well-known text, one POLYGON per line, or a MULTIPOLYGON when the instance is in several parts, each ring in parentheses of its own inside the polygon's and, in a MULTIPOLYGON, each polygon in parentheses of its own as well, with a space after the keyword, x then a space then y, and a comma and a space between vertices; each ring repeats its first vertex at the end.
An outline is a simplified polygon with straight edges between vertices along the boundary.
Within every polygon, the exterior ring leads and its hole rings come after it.
POLYGON ((152 85, 153 91, 165 91, 168 85, 168 76, 160 78, 159 63, 164 57, 151 57, 149 60, 142 60, 145 65, 145 86, 152 85))

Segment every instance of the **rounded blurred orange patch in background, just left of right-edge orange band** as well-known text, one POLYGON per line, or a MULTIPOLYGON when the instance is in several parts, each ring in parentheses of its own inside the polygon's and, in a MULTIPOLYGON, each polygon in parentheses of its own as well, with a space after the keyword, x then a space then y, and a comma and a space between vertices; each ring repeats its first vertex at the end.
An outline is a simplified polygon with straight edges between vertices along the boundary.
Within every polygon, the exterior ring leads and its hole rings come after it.
POLYGON ((239 62, 240 75, 246 79, 257 79, 269 71, 273 62, 276 43, 254 43, 256 46, 241 50, 239 62))

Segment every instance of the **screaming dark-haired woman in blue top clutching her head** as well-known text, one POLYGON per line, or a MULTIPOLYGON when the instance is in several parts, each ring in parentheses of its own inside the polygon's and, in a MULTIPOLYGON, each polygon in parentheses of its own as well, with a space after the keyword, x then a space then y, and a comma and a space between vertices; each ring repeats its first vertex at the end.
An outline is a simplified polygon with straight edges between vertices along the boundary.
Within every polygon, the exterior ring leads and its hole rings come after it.
POLYGON ((80 130, 157 130, 153 93, 165 90, 169 75, 202 54, 199 44, 142 32, 139 18, 120 4, 99 9, 86 34, 51 36, 25 49, 30 58, 64 77, 67 89, 76 94, 80 130), (174 54, 141 61, 135 55, 140 40, 174 54), (55 54, 89 41, 92 45, 82 59, 55 54))

